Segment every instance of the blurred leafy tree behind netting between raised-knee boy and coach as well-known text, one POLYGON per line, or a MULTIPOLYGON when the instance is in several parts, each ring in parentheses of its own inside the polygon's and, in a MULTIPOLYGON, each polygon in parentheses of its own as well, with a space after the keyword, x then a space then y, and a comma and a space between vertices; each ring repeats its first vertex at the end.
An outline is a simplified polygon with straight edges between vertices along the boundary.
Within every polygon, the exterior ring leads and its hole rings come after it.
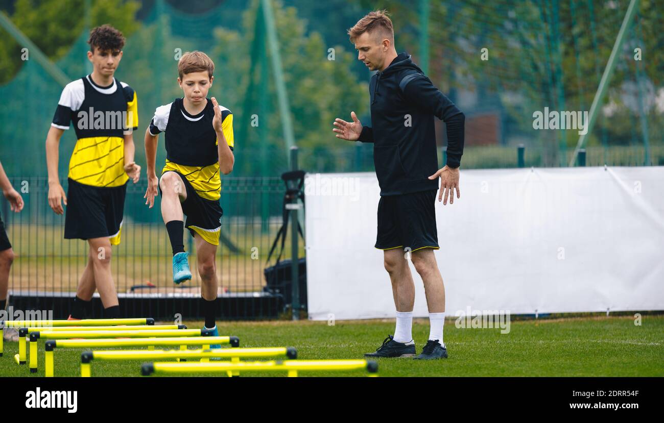
MULTIPOLYGON (((353 74, 355 54, 344 46, 327 46, 315 30, 307 32, 305 22, 299 19, 294 7, 285 8, 280 1, 274 1, 273 5, 295 142, 303 149, 303 154, 324 151, 315 157, 320 170, 334 168, 340 158, 348 156, 353 145, 334 137, 332 123, 335 117, 348 117, 351 110, 358 115, 367 111, 368 84, 357 81, 353 74), (334 49, 334 60, 329 60, 329 48, 334 49)), ((224 102, 234 113, 236 134, 243 133, 242 125, 246 128, 246 139, 238 140, 238 151, 240 154, 250 151, 244 157, 251 159, 236 162, 236 166, 241 166, 241 174, 272 175, 286 170, 286 149, 269 51, 266 62, 269 82, 263 85, 268 91, 262 97, 267 99, 267 105, 262 104, 258 92, 260 66, 254 63, 251 67, 257 7, 258 2, 254 1, 253 7, 244 13, 243 34, 224 29, 216 31, 218 48, 212 53, 218 58, 219 74, 223 74, 217 78, 224 85, 224 93, 228 93, 224 102), (254 89, 250 90, 252 78, 254 89), (247 96, 254 101, 245 110, 247 96), (267 116, 260 115, 261 110, 268 111, 267 116), (252 115, 258 117, 258 127, 251 126, 252 115), (261 125, 267 128, 261 129, 261 125), (267 139, 262 139, 261 134, 266 134, 267 139), (267 169, 260 168, 258 160, 263 145, 268 151, 264 164, 267 169)), ((255 57, 260 62, 260 54, 255 57)))

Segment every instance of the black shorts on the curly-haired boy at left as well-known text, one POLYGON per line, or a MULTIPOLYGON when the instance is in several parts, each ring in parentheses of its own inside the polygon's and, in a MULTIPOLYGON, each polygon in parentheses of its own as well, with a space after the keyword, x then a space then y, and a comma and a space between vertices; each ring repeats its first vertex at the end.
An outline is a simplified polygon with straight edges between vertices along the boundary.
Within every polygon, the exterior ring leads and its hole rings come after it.
POLYGON ((100 187, 68 182, 64 239, 108 237, 112 245, 120 244, 127 184, 100 187))

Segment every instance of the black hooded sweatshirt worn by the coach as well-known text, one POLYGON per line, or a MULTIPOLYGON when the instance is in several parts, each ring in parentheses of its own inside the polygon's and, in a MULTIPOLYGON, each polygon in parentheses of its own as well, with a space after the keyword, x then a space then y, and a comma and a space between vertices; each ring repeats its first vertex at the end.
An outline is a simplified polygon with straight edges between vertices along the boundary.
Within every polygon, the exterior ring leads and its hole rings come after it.
POLYGON ((434 116, 445 121, 448 162, 459 167, 463 154, 465 116, 432 84, 424 72, 401 53, 369 84, 371 123, 359 141, 374 143, 374 165, 381 196, 438 189, 434 116))

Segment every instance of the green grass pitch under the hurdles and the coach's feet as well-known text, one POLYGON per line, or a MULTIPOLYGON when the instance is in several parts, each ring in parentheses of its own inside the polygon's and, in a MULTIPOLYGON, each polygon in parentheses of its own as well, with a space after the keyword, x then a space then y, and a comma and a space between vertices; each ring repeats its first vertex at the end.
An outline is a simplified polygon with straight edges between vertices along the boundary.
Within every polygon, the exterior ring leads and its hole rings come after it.
MULTIPOLYGON (((201 322, 185 322, 199 328, 201 322)), ((220 335, 240 337, 241 347, 297 348, 299 359, 358 359, 374 351, 393 320, 327 322, 218 322, 220 335)), ((416 319, 413 335, 418 353, 428 336, 428 320, 416 319)), ((454 320, 445 325, 450 357, 440 361, 380 359, 380 376, 664 376, 664 316, 644 315, 641 326, 627 317, 585 317, 554 320, 518 320, 511 332, 499 329, 459 329, 454 320)), ((0 376, 44 375, 44 341, 39 347, 39 372, 13 359, 17 343, 5 342, 0 357, 0 376)), ((56 376, 80 375, 80 349, 55 353, 56 376)), ((141 361, 92 364, 92 376, 139 376, 141 361)), ((362 371, 311 372, 302 376, 363 376, 362 371)), ((282 373, 254 373, 252 376, 282 373)), ((250 376, 250 374, 246 374, 250 376)))

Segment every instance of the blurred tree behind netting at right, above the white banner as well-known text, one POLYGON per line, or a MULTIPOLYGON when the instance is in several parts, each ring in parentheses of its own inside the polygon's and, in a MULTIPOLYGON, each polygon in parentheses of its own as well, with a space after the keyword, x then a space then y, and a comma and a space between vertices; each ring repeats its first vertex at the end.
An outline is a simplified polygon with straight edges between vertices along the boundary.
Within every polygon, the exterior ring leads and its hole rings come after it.
MULTIPOLYGON (((417 46, 419 1, 361 0, 392 12, 395 38, 417 46), (404 31, 406 34, 404 34, 404 31), (413 38, 408 38, 412 36, 413 38)), ((533 111, 590 109, 618 36, 627 0, 430 1, 429 76, 442 91, 471 91, 476 107, 504 111, 511 137, 542 147, 545 164, 566 162, 576 131, 533 131, 533 111), (481 60, 487 48, 489 60, 481 60)), ((664 0, 643 0, 627 33, 590 145, 641 143, 641 113, 651 143, 663 141, 664 119, 655 97, 664 95, 661 31, 664 0), (643 60, 634 60, 640 48, 643 60), (639 83, 640 81, 640 83, 639 83), (640 84, 640 85, 639 85, 640 84), (640 93, 639 93, 640 88, 640 93), (641 99, 639 99, 641 95, 641 99), (638 104, 643 101, 643 109, 638 104), (652 138, 659 139, 653 140, 652 138)), ((397 41, 397 44, 399 42, 397 41)), ((414 48, 417 59, 417 49, 414 48)), ((468 110, 472 113, 473 109, 468 110)))

